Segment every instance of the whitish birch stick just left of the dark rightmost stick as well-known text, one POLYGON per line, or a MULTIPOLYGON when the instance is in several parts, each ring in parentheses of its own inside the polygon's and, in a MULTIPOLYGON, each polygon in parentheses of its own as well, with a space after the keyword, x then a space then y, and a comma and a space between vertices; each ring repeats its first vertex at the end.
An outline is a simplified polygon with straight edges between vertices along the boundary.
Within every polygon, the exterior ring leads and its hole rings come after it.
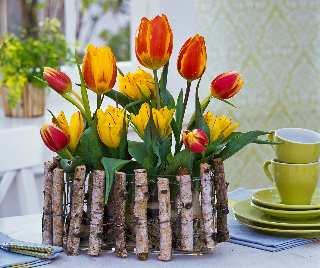
POLYGON ((207 163, 200 164, 200 182, 202 218, 204 225, 204 244, 208 248, 214 248, 216 246, 216 234, 214 232, 215 227, 212 214, 210 166, 207 163))

